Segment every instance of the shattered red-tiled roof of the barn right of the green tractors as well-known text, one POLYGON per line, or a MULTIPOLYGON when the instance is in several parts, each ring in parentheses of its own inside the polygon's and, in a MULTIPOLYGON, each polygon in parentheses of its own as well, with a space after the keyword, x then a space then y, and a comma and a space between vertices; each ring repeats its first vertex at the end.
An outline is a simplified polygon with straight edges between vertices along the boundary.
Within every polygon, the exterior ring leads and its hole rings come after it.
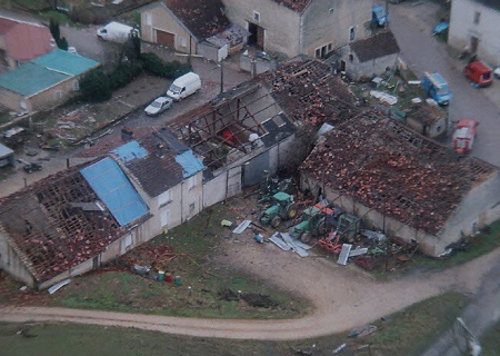
POLYGON ((498 172, 373 112, 329 131, 300 169, 429 234, 440 231, 471 188, 498 172))

